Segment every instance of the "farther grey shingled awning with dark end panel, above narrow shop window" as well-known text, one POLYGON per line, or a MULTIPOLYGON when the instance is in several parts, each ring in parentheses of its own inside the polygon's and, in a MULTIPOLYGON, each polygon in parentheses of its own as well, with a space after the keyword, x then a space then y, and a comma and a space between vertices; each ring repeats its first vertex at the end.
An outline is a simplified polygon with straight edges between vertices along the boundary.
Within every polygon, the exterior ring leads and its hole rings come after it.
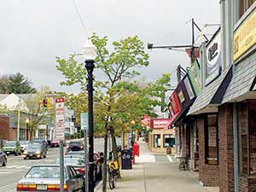
POLYGON ((232 78, 232 67, 222 73, 218 79, 208 84, 197 98, 189 110, 189 114, 218 112, 218 105, 222 102, 224 93, 232 78))

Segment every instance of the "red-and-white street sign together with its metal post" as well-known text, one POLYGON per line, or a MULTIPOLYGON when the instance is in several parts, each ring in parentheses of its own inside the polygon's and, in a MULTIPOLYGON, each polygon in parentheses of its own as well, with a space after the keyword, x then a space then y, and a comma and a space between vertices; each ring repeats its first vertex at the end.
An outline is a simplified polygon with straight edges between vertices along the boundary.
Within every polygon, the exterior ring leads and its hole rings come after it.
POLYGON ((65 105, 64 98, 55 98, 55 113, 56 113, 56 123, 55 123, 55 138, 60 140, 60 189, 64 192, 64 153, 63 153, 63 140, 65 132, 65 105))

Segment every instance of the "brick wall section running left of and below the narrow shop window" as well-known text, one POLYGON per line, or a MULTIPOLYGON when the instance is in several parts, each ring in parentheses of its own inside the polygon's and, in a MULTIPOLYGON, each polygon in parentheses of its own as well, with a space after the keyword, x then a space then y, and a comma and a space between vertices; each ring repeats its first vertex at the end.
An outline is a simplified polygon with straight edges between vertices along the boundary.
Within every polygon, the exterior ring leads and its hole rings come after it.
POLYGON ((206 164, 205 153, 205 127, 204 119, 198 119, 198 137, 199 137, 199 179, 204 186, 218 186, 219 168, 218 165, 206 164))

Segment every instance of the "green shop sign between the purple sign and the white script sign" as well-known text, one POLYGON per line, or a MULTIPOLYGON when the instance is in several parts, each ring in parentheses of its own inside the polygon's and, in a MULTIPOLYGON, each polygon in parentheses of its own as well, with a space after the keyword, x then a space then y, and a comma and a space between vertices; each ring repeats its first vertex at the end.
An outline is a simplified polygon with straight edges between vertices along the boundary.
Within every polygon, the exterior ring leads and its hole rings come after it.
POLYGON ((198 62, 195 60, 192 67, 189 68, 189 79, 195 90, 195 96, 198 96, 201 91, 201 72, 198 62))

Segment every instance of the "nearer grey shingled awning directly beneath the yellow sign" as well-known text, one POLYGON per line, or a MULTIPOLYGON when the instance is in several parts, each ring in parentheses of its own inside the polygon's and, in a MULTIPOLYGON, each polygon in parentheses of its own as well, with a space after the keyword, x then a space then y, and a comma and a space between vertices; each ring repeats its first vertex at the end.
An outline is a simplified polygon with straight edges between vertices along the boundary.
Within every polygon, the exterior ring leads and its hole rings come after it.
MULTIPOLYGON (((253 81, 256 76, 256 54, 236 64, 233 78, 224 95, 224 102, 234 102, 237 97, 253 90, 253 81)), ((254 88, 255 89, 255 88, 254 88)))

